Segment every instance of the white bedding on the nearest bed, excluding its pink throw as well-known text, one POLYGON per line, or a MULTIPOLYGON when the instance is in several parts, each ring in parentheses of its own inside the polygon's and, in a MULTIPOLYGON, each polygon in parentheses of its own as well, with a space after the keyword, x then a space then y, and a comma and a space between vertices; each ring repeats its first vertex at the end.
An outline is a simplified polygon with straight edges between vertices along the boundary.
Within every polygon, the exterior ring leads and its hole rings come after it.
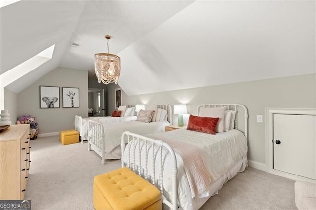
MULTIPOLYGON (((136 133, 136 132, 135 132, 136 133)), ((242 132, 238 130, 230 130, 224 133, 217 133, 216 135, 210 135, 201 132, 189 131, 185 129, 178 129, 174 131, 145 135, 152 139, 156 140, 166 140, 166 141, 181 141, 187 144, 195 145, 199 148, 202 153, 204 163, 206 165, 209 176, 211 177, 211 184, 208 186, 208 190, 203 193, 196 194, 192 196, 191 189, 189 186, 188 177, 184 168, 190 168, 190 166, 184 167, 183 159, 177 154, 177 149, 174 148, 177 157, 178 165, 178 202, 182 209, 194 209, 199 208, 200 206, 195 206, 194 199, 198 200, 200 198, 206 198, 214 194, 214 189, 211 189, 212 183, 215 183, 217 180, 223 178, 224 175, 228 174, 228 171, 235 166, 238 162, 242 162, 243 169, 247 163, 247 140, 242 132)), ((134 145, 132 144, 132 147, 134 145)), ((124 153, 124 161, 128 162, 127 152, 129 150, 130 144, 127 145, 124 153)), ((136 150, 138 145, 136 143, 136 150)), ((148 150, 148 174, 153 175, 153 164, 152 164, 152 148, 151 145, 147 146, 148 150)), ((145 152, 142 152, 141 165, 145 165, 146 157, 145 152)), ((168 153, 169 154, 169 153, 168 153)), ((157 155, 160 155, 158 152, 157 155)), ((130 155, 131 161, 133 161, 134 156, 130 155)), ((165 194, 172 194, 171 191, 171 164, 170 164, 170 155, 166 155, 166 152, 163 152, 163 185, 165 194)), ((134 161, 139 165, 139 158, 135 157, 134 161)), ((193 161, 194 162, 194 161, 193 161)), ((156 171, 155 179, 158 179, 160 173, 158 171, 160 166, 160 158, 156 160, 156 171)), ((144 168, 144 167, 143 167, 144 168)), ((235 170, 236 171, 236 170, 235 170)), ((229 176, 229 175, 228 175, 229 176)), ((198 178, 198 177, 196 177, 198 178)), ((217 189, 215 190, 217 192, 217 189)))

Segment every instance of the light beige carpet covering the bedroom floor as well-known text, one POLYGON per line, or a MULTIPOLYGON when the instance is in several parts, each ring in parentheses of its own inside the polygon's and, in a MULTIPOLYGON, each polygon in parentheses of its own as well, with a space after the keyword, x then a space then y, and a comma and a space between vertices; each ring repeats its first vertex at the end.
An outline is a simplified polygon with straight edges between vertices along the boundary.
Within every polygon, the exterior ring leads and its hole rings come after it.
MULTIPOLYGON (((25 199, 32 210, 93 210, 93 177, 120 167, 87 150, 87 144, 63 146, 59 136, 31 141, 31 166, 25 199)), ((248 167, 226 183, 201 210, 297 209, 294 181, 248 167)))

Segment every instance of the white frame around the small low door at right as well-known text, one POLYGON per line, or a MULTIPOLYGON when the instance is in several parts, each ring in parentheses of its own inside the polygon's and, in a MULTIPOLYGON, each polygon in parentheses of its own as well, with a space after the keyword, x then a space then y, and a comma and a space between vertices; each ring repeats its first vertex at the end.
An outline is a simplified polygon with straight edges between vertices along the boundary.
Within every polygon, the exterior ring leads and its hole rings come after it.
POLYGON ((310 181, 316 183, 316 180, 305 178, 299 175, 293 175, 273 169, 273 115, 274 114, 302 114, 316 115, 316 109, 312 108, 266 108, 266 171, 290 178, 293 180, 310 181))

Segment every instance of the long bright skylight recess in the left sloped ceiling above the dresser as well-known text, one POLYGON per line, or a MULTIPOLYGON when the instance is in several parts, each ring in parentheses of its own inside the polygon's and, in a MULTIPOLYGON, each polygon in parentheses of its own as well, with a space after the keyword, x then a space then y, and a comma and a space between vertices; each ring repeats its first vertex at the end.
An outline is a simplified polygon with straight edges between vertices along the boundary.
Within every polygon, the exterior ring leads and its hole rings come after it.
POLYGON ((4 108, 4 87, 49 61, 53 57, 54 48, 55 44, 0 75, 1 110, 4 108))

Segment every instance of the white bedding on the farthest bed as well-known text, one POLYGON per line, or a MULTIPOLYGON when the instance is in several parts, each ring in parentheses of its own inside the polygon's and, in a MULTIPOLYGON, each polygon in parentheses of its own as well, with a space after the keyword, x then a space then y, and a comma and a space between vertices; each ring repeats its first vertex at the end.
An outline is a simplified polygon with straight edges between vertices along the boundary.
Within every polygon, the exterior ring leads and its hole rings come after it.
POLYGON ((80 136, 83 140, 88 140, 88 121, 92 120, 102 124, 115 123, 115 122, 125 122, 125 121, 135 121, 137 116, 129 117, 87 117, 82 118, 82 128, 80 130, 80 136))

